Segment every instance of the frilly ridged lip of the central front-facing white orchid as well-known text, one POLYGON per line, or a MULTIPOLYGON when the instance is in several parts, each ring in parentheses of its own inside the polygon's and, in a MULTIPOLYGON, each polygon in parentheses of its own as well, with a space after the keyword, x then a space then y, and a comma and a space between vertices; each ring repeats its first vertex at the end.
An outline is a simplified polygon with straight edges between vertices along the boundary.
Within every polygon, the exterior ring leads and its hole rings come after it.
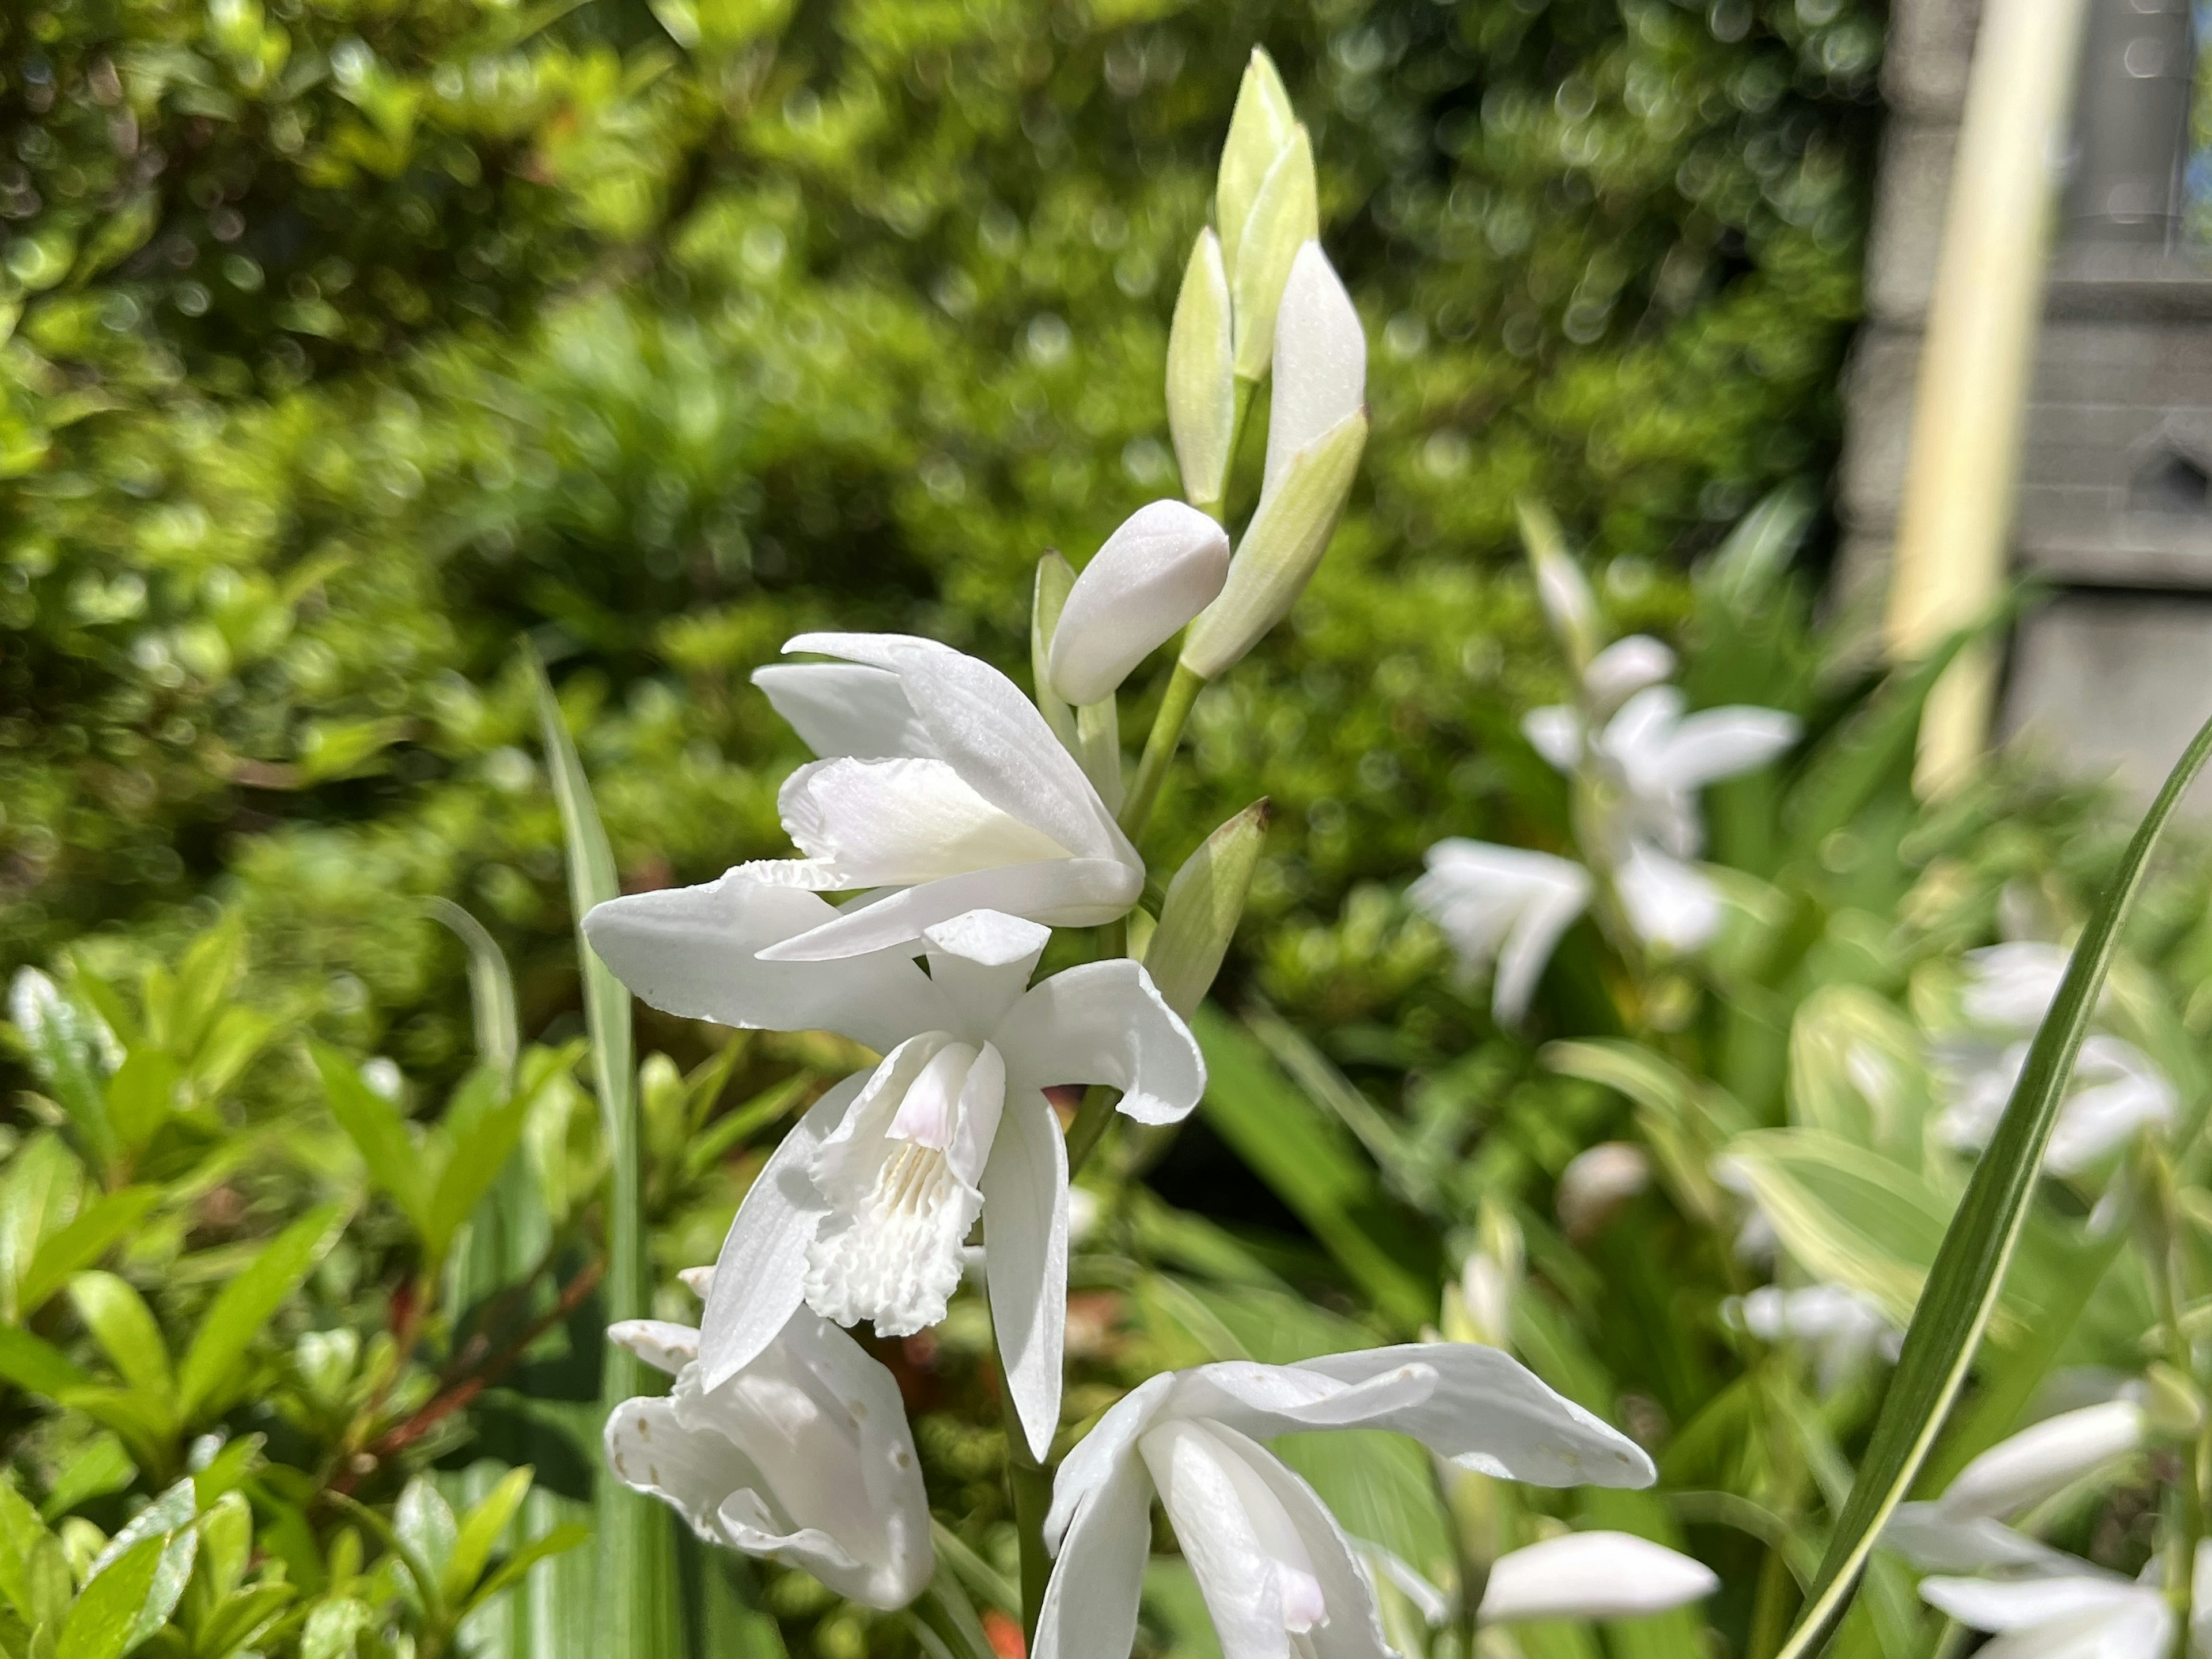
POLYGON ((827 1206, 807 1245, 805 1298, 816 1314, 872 1321, 878 1336, 945 1318, 1004 1097, 1006 1073, 989 1044, 927 1033, 883 1057, 814 1155, 827 1206))

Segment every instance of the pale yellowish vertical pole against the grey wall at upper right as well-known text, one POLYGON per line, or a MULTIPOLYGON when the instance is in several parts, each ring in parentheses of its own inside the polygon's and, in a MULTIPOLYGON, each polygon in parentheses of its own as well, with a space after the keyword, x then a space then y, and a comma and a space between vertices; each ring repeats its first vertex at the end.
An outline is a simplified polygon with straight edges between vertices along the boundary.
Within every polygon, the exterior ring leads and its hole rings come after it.
MULTIPOLYGON (((2004 584, 2053 175, 2084 11, 2086 0, 1986 0, 1982 9, 1889 577, 1887 641, 1896 661, 1918 661, 1989 615, 2004 584)), ((1913 768, 1922 794, 1942 792, 1975 765, 1995 684, 1989 648, 1964 653, 1938 681, 1913 768)))

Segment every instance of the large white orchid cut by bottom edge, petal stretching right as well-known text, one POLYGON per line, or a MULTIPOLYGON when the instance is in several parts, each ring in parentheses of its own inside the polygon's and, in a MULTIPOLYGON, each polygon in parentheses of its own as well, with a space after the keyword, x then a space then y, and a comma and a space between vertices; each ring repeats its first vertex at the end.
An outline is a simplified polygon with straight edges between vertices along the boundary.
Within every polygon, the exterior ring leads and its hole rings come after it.
POLYGON ((1126 1659, 1157 1493, 1223 1659, 1385 1659, 1354 1546, 1259 1442, 1396 1429, 1464 1469, 1544 1486, 1646 1486, 1650 1458, 1493 1347, 1436 1343, 1155 1376, 1068 1453, 1035 1659, 1126 1659), (1294 1641, 1296 1637, 1296 1641, 1294 1641))

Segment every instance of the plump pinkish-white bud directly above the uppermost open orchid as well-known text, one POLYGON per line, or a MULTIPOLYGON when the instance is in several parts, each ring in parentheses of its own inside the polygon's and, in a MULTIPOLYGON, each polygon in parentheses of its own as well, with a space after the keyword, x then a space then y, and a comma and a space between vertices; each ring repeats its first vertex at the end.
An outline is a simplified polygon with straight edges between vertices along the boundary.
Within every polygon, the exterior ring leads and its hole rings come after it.
POLYGON ((1048 659, 1053 690, 1077 708, 1113 697, 1137 664, 1212 604, 1228 571, 1228 531, 1197 507, 1139 507, 1066 595, 1048 659))

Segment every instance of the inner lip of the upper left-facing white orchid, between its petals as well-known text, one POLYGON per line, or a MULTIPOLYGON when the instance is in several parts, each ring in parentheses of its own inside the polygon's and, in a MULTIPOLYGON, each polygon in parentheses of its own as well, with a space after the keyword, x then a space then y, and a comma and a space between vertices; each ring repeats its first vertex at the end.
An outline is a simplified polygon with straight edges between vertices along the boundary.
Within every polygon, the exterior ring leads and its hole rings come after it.
POLYGON ((975 794, 949 761, 814 761, 783 781, 776 805, 805 860, 743 869, 794 887, 905 887, 1068 856, 975 794))

